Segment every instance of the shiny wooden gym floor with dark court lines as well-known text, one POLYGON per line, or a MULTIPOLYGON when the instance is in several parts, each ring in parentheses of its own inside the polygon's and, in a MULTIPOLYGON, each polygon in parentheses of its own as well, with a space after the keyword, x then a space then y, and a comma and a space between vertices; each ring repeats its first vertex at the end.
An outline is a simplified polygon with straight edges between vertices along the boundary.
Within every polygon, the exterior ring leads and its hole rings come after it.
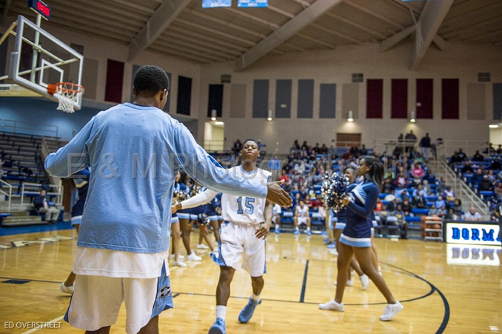
MULTIPOLYGON (((194 234, 192 238, 197 231, 194 234)), ((71 269, 75 238, 74 230, 0 237, 0 333, 83 332, 64 321, 61 328, 6 328, 6 322, 16 327, 27 321, 62 321, 70 296, 60 293, 59 285, 71 269)), ((317 303, 334 295, 336 257, 327 252, 319 235, 295 238, 284 233, 271 234, 267 240, 263 302, 247 324, 238 323, 237 315, 251 292, 250 279, 242 270, 235 274, 227 332, 502 332, 500 248, 481 252, 477 261, 482 264, 466 265, 473 253, 463 246, 384 239, 376 239, 375 244, 384 278, 405 306, 392 321, 379 320, 385 300, 376 287, 370 283, 362 291, 357 279, 354 287, 345 290, 345 312, 318 309, 317 303)), ((214 321, 219 270, 207 251, 202 255, 201 263, 171 267, 175 308, 160 315, 161 333, 207 333, 214 321)), ((125 332, 124 311, 122 306, 111 333, 125 332)))

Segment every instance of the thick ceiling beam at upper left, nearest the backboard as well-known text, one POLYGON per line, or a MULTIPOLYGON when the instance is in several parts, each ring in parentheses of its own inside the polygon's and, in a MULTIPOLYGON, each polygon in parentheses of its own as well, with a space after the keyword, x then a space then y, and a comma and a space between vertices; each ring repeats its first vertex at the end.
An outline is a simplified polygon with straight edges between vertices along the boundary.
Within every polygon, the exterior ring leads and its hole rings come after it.
POLYGON ((190 0, 169 0, 160 5, 129 45, 128 61, 152 45, 189 3, 190 0))

